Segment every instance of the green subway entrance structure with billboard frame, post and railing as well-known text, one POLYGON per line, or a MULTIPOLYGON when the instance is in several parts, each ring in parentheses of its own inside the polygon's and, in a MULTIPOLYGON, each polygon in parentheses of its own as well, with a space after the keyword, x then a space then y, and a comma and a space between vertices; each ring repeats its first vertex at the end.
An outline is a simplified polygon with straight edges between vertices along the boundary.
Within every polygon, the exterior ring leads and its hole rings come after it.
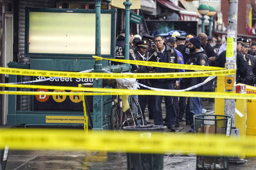
MULTIPOLYGON (((110 1, 109 1, 110 2, 110 1)), ((94 72, 102 72, 102 67, 106 70, 116 73, 129 72, 130 65, 109 66, 108 61, 95 61, 92 54, 65 54, 65 53, 30 53, 29 52, 29 12, 76 12, 76 13, 95 13, 95 55, 106 58, 115 57, 115 20, 116 9, 100 10, 101 0, 95 0, 95 10, 82 9, 55 9, 55 8, 26 8, 26 25, 25 25, 25 57, 30 57, 30 64, 15 63, 8 64, 12 68, 38 69, 38 70, 59 70, 59 71, 83 71, 94 68, 94 72), (65 11, 66 10, 66 11, 65 11), (111 14, 111 53, 101 55, 101 15, 111 14)), ((94 55, 94 54, 93 54, 94 55)), ((35 77, 10 75, 9 82, 22 82, 23 80, 34 80, 35 77)), ((94 79, 94 87, 102 87, 102 79, 94 79)), ((33 89, 9 88, 14 91, 32 91, 33 89)), ((111 104, 103 105, 103 100, 110 96, 94 96, 93 118, 94 130, 109 129, 109 122, 105 118, 106 113, 110 113, 111 104)), ((72 123, 46 123, 46 116, 83 116, 83 111, 69 110, 35 110, 34 96, 29 95, 9 95, 7 124, 24 125, 24 126, 83 126, 83 124, 72 123), (26 105, 26 106, 23 106, 26 105)), ((91 110, 91 108, 90 108, 91 110)))

